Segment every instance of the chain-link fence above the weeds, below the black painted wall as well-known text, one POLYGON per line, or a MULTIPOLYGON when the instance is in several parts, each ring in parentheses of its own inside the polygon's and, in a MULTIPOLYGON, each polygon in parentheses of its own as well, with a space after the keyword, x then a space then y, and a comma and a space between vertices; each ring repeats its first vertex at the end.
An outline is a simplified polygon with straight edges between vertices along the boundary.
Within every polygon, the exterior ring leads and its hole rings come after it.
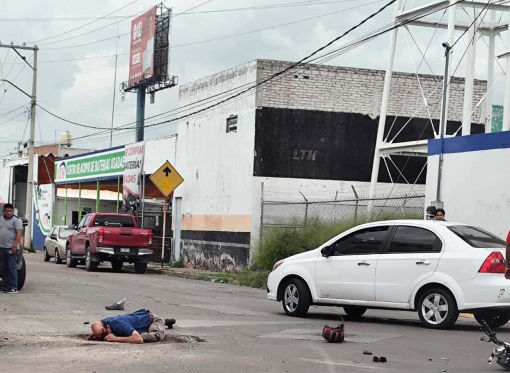
POLYGON ((423 219, 425 196, 405 194, 338 200, 262 200, 261 231, 271 227, 296 228, 343 221, 364 223, 388 219, 423 219))

